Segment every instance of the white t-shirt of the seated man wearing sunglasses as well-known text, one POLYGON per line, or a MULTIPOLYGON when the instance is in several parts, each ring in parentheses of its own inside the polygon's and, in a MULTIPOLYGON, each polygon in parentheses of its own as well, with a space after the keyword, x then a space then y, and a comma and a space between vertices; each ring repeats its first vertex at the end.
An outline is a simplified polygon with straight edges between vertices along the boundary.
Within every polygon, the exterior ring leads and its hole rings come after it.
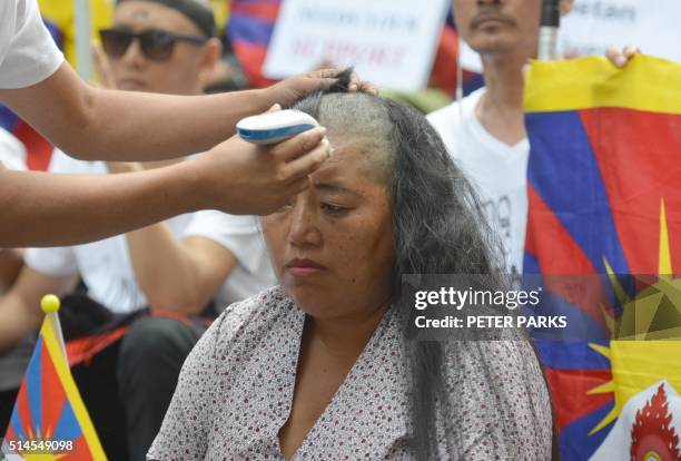
MULTIPOLYGON (((89 175, 108 173, 103 161, 76 160, 57 149, 50 171, 89 175)), ((220 310, 276 284, 256 219, 254 216, 205 210, 165 222, 178 238, 210 238, 236 257, 237 264, 216 297, 216 305, 220 310)), ((135 277, 125 235, 85 245, 30 248, 24 259, 29 267, 46 275, 80 273, 88 287, 88 295, 112 312, 129 313, 147 305, 147 298, 135 277)))

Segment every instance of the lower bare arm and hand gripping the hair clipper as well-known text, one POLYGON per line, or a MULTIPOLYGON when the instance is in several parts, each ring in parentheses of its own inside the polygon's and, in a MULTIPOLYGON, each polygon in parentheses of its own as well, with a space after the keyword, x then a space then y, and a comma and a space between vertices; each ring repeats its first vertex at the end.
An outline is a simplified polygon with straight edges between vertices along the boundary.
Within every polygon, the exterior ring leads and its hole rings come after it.
POLYGON ((324 134, 317 128, 269 149, 234 137, 197 159, 121 175, 9 171, 0 165, 0 246, 83 243, 204 208, 272 213, 305 189, 307 175, 326 159, 324 134))

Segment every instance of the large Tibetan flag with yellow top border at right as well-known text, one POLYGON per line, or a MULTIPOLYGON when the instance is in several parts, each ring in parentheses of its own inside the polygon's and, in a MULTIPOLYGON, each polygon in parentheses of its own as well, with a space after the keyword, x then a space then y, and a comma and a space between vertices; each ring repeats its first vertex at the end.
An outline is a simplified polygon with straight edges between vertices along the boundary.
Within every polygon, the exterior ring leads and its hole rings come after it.
POLYGON ((602 281, 551 293, 588 337, 535 342, 561 459, 681 460, 681 65, 534 62, 524 105, 525 272, 602 281))

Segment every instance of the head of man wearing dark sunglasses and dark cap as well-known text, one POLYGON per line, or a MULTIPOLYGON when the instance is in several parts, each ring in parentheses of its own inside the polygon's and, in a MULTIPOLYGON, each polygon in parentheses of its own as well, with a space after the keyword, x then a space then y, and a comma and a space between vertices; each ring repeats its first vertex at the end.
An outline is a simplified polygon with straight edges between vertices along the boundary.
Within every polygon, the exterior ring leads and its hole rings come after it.
POLYGON ((101 69, 101 53, 96 63, 105 86, 198 95, 219 60, 215 36, 213 12, 199 0, 119 1, 112 27, 99 31, 111 68, 101 69))

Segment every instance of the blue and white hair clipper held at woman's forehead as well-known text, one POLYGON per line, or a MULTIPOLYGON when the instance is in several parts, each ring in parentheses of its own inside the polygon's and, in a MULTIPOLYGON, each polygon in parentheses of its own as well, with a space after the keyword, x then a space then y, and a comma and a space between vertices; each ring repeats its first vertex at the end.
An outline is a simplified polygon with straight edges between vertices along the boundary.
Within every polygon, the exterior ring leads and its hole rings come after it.
POLYGON ((279 110, 246 117, 237 124, 237 134, 253 144, 275 144, 318 127, 309 115, 299 110, 279 110))

